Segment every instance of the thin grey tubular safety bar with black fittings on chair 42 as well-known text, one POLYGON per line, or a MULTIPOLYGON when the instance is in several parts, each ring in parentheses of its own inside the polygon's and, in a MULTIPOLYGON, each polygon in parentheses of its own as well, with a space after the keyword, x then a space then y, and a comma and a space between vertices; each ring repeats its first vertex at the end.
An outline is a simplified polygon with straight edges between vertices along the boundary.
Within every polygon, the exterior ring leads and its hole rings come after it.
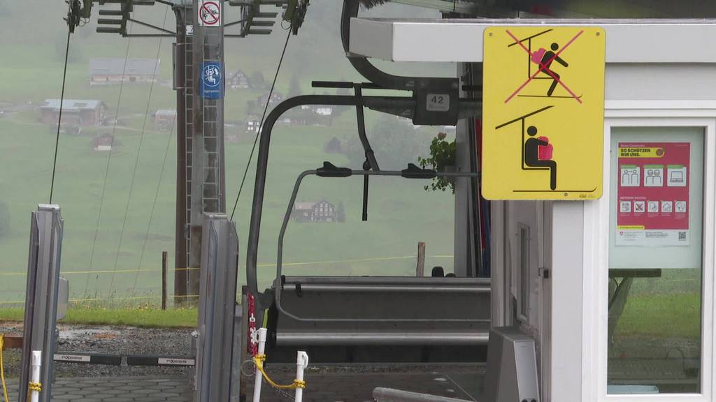
MULTIPOLYGON (((331 165, 328 162, 325 162, 324 169, 326 169, 326 165, 329 167, 332 167, 336 170, 342 170, 346 171, 345 168, 337 168, 331 165)), ((412 164, 411 164, 412 165, 412 164)), ((406 170, 381 170, 378 172, 374 171, 366 171, 366 170, 350 170, 351 175, 362 175, 362 176, 400 176, 400 177, 407 177, 407 178, 430 178, 430 177, 479 177, 479 173, 477 172, 435 172, 435 170, 427 170, 427 169, 420 169, 418 167, 415 167, 413 165, 412 167, 409 167, 406 170), (425 172, 430 172, 430 175, 415 175, 416 170, 422 170, 425 172)), ((337 322, 443 322, 443 323, 483 323, 488 320, 483 319, 470 319, 470 318, 319 318, 319 317, 313 317, 313 318, 305 318, 305 317, 299 317, 298 315, 295 315, 294 313, 289 313, 284 309, 284 307, 281 305, 281 292, 283 291, 283 286, 281 283, 281 275, 282 275, 282 263, 284 259, 284 237, 286 235, 286 228, 289 226, 289 220, 291 219, 291 212, 294 210, 294 203, 296 202, 296 197, 299 195, 299 187, 301 187, 301 182, 303 182, 304 177, 309 175, 318 175, 319 170, 306 170, 304 172, 301 172, 301 175, 296 179, 296 184, 294 184, 294 190, 291 192, 291 200, 289 200, 289 205, 286 207, 286 214, 284 214, 284 222, 281 224, 281 232, 279 232, 279 253, 276 257, 276 291, 274 292, 274 300, 276 303, 276 308, 283 313, 284 315, 293 318, 294 320, 298 321, 310 321, 310 322, 330 322, 330 323, 337 323, 337 322)), ((334 176, 335 177, 335 176, 334 176)), ((303 285, 301 285, 301 288, 303 288, 303 285)), ((366 287, 368 288, 368 287, 366 287)), ((423 290, 425 291, 425 290, 423 290)))

